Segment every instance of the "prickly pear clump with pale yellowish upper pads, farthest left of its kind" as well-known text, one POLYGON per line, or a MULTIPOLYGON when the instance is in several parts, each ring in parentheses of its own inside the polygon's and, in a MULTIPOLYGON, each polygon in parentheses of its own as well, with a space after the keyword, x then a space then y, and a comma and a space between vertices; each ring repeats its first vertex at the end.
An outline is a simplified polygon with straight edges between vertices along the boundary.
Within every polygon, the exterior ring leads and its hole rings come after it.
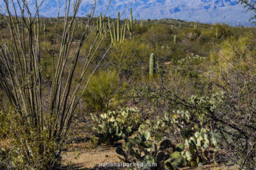
POLYGON ((136 108, 108 111, 99 116, 93 115, 93 129, 97 132, 99 143, 113 145, 115 141, 130 136, 140 124, 140 114, 136 108))

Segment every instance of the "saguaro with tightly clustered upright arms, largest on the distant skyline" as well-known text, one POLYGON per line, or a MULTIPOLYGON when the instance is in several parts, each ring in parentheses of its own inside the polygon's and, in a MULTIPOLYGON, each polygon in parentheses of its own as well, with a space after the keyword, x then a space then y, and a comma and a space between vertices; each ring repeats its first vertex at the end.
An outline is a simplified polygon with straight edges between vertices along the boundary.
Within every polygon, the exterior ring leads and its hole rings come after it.
POLYGON ((110 22, 110 17, 108 17, 108 27, 111 27, 109 34, 113 45, 116 46, 118 43, 122 45, 125 39, 126 24, 122 25, 122 29, 120 29, 120 12, 118 12, 116 24, 115 22, 110 22))

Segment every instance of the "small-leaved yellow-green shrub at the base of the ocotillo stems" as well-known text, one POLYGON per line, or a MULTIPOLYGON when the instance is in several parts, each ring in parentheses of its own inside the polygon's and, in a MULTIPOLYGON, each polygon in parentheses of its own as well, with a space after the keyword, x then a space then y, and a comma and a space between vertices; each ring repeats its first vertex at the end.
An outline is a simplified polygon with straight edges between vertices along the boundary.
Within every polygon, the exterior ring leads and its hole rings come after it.
POLYGON ((1 113, 0 132, 8 129, 10 144, 0 148, 1 169, 56 169, 60 167, 62 144, 49 139, 47 131, 38 132, 22 122, 15 111, 1 113))

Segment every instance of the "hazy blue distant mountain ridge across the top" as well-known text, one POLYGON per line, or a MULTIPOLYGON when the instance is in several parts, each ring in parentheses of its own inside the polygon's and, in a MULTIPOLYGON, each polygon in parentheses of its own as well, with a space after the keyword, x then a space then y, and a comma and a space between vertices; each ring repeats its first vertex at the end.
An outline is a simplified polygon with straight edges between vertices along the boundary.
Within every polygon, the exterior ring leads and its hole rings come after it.
MULTIPOLYGON (((97 1, 97 12, 104 12, 109 0, 97 1)), ((116 17, 117 11, 127 8, 129 0, 112 0, 107 15, 116 17)), ((4 7, 3 0, 0 6, 4 7)), ((78 15, 86 16, 88 7, 93 5, 93 0, 82 1, 78 15)), ((35 10, 35 0, 31 0, 29 7, 35 10)), ((246 13, 246 9, 237 0, 133 0, 129 8, 137 19, 175 18, 180 20, 214 23, 225 22, 230 25, 252 25, 248 20, 253 17, 253 12, 246 13)), ((63 16, 65 0, 60 1, 60 14, 63 16)), ((40 15, 56 17, 58 13, 58 0, 45 0, 40 8, 40 15)), ((123 18, 129 17, 129 10, 125 11, 123 18)))

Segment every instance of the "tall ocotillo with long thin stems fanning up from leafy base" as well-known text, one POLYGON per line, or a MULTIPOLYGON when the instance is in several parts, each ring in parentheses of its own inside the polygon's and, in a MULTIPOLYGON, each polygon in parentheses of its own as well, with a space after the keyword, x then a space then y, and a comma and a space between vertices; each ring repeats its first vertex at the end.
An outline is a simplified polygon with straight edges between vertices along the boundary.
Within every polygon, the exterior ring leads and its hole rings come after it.
MULTIPOLYGON (((44 0, 35 0, 35 12, 29 9, 26 0, 4 0, 3 17, 10 32, 0 30, 0 90, 4 94, 0 113, 10 121, 6 128, 11 129, 8 135, 15 145, 9 152, 0 150, 3 153, 0 155, 0 169, 56 169, 60 165, 61 146, 77 104, 92 74, 111 48, 110 44, 92 66, 95 53, 108 34, 107 31, 101 36, 93 35, 96 0, 88 11, 87 16, 90 17, 81 38, 74 41, 76 15, 81 1, 67 0, 65 16, 61 18, 59 8, 58 17, 54 19, 53 45, 48 46, 45 39, 48 28, 40 26, 42 18, 39 11, 44 0), (57 28, 62 24, 63 31, 59 34, 57 28), (42 45, 44 41, 45 45, 42 45), (82 60, 84 54, 81 55, 80 50, 83 45, 90 48, 82 60), (41 61, 45 51, 52 60, 49 89, 45 89, 42 76, 41 61), (79 71, 78 63, 83 66, 79 71), (1 161, 4 158, 6 161, 1 161)), ((60 0, 58 4, 60 7, 60 0)))

